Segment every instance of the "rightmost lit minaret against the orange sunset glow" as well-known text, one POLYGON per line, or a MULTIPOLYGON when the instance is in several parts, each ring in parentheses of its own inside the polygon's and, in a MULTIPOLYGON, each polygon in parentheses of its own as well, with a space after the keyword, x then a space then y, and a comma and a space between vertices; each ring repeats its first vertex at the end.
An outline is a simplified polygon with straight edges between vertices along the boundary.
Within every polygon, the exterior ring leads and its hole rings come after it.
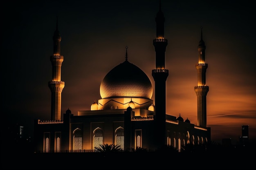
POLYGON ((206 95, 209 91, 209 86, 206 86, 205 73, 208 64, 205 63, 205 45, 203 41, 203 33, 201 28, 201 40, 198 45, 198 64, 195 68, 198 72, 198 86, 195 86, 195 93, 198 96, 198 126, 205 127, 206 124, 206 95))

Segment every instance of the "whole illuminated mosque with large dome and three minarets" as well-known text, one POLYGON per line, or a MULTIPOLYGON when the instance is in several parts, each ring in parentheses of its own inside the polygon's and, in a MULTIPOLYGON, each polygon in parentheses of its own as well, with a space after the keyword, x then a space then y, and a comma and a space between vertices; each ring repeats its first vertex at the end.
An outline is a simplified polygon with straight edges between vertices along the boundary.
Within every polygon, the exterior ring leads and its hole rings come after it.
POLYGON ((166 113, 165 51, 168 40, 164 38, 164 14, 159 11, 155 17, 156 38, 155 68, 152 76, 155 81, 155 100, 153 86, 138 66, 128 61, 115 66, 100 84, 101 99, 94 101, 91 110, 78 111, 77 116, 67 109, 61 120, 61 93, 65 82, 61 81, 60 53, 61 36, 58 31, 53 35, 52 81, 48 83, 51 91, 51 120, 34 121, 34 152, 95 152, 101 144, 114 144, 124 151, 145 148, 157 150, 163 146, 173 146, 181 150, 186 144, 204 144, 211 140, 211 128, 207 127, 205 63, 206 46, 201 39, 198 44, 198 84, 194 87, 197 95, 198 122, 175 117, 166 113), (120 75, 126 75, 122 76, 120 75))

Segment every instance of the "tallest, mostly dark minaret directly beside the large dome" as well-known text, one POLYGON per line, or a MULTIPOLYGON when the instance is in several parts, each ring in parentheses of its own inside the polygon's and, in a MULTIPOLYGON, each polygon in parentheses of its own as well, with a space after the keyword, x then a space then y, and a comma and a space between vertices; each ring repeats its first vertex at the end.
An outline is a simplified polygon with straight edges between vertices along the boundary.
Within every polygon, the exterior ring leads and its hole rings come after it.
POLYGON ((161 1, 159 11, 155 18, 156 39, 153 40, 155 46, 155 69, 152 76, 155 80, 155 139, 156 146, 161 147, 166 144, 166 79, 168 70, 165 69, 165 50, 168 40, 164 38, 164 14, 161 11, 161 1))

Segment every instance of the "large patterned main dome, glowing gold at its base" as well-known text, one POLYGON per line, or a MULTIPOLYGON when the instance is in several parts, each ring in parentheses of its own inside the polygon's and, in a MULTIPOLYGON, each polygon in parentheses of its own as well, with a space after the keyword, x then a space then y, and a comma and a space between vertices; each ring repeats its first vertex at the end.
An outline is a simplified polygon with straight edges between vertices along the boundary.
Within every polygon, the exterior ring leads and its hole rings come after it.
POLYGON ((115 66, 100 86, 101 98, 141 97, 150 99, 153 87, 148 76, 137 66, 125 62, 115 66))

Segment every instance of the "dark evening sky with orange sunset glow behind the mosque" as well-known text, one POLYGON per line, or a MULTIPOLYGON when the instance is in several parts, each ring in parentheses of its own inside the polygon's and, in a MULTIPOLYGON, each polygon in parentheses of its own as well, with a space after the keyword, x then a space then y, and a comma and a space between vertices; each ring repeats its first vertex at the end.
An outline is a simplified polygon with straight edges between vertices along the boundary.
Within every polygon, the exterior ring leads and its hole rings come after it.
MULTIPOLYGON (((252 1, 162 0, 165 16, 166 112, 197 125, 198 43, 203 27, 208 64, 207 126, 212 141, 237 141, 242 125, 256 139, 256 35, 252 1)), ((101 99, 105 75, 128 60, 150 78, 155 68, 158 0, 4 1, 2 101, 7 121, 33 131, 34 119, 50 119, 52 36, 61 34, 62 113, 90 110, 101 99)), ((152 97, 154 99, 154 95, 152 97)))

